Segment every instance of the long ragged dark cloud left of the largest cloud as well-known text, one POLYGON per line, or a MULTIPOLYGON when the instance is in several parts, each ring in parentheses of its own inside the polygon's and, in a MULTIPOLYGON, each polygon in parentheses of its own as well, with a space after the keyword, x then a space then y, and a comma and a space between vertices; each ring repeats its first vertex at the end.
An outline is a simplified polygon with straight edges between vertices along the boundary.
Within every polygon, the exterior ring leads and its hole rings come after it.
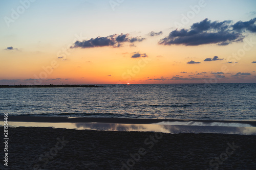
POLYGON ((102 47, 102 46, 112 46, 120 47, 124 42, 136 42, 143 41, 145 38, 142 37, 130 37, 129 34, 113 34, 106 37, 91 38, 90 40, 76 41, 70 48, 91 48, 91 47, 102 47))

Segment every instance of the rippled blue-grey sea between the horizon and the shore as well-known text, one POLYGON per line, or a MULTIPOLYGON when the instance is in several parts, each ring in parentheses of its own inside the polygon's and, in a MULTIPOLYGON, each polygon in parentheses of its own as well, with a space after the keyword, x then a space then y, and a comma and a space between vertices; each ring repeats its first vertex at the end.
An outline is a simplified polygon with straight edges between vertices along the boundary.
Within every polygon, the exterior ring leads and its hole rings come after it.
POLYGON ((256 120, 256 84, 0 88, 9 115, 256 120))

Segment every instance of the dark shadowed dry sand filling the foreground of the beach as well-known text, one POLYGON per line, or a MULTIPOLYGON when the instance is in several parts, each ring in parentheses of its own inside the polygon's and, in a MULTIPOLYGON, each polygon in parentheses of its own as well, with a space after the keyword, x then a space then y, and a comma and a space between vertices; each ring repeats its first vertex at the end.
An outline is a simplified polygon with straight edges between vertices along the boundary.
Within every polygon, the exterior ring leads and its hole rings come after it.
MULTIPOLYGON (((122 169, 122 162, 126 164, 123 169, 256 169, 255 135, 22 127, 8 130, 6 169, 122 169), (57 138, 69 142, 60 144, 57 138), (239 147, 230 149, 228 142, 239 147), (47 153, 50 158, 45 157, 47 153), (209 165, 210 160, 220 156, 219 163, 214 160, 213 166, 209 165)), ((0 148, 3 165, 3 142, 0 148)))

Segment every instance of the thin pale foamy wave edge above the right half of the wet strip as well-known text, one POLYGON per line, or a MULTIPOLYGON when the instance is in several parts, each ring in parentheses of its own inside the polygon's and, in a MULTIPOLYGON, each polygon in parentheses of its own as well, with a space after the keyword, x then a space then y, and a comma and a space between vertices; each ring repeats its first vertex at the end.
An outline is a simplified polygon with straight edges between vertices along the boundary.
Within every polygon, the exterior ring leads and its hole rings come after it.
POLYGON ((184 125, 184 126, 222 126, 222 127, 253 127, 249 124, 228 123, 228 122, 159 122, 156 125, 184 125))

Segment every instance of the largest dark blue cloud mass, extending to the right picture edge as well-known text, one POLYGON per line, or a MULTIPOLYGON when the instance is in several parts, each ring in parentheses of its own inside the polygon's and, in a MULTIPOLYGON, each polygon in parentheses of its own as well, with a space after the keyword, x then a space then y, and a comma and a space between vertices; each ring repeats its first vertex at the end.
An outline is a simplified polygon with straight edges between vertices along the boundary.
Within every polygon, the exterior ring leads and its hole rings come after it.
POLYGON ((159 44, 172 45, 202 45, 217 44, 228 45, 232 42, 242 41, 244 35, 242 31, 256 32, 254 25, 256 18, 246 22, 239 21, 232 25, 231 20, 211 21, 208 18, 193 23, 187 29, 174 30, 169 35, 159 41, 159 44))

